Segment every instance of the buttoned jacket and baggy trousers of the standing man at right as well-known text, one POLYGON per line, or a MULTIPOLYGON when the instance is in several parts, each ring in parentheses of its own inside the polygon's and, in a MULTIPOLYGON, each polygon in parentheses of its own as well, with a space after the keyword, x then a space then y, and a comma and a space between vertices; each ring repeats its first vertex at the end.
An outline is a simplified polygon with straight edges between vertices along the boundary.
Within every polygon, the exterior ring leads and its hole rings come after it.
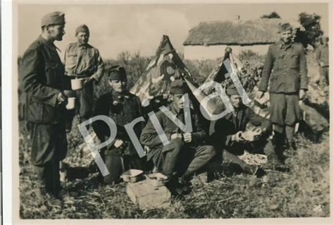
POLYGON ((269 47, 259 90, 270 83, 271 122, 294 126, 300 118, 299 90, 307 90, 307 59, 298 43, 276 43, 269 47))

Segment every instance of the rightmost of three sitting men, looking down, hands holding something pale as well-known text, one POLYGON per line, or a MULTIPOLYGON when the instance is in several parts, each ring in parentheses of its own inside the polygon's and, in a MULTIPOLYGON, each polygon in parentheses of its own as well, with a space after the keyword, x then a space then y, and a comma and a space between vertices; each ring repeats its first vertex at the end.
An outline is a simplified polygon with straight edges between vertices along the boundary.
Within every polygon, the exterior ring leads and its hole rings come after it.
POLYGON ((246 164, 237 155, 242 155, 245 150, 249 153, 266 154, 268 166, 274 169, 284 169, 285 166, 279 161, 271 134, 271 123, 268 119, 259 116, 245 104, 242 104, 242 97, 235 88, 230 85, 226 89, 234 111, 226 114, 218 121, 211 122, 211 138, 217 150, 223 150, 223 160, 238 164, 243 171, 249 174, 263 175, 263 169, 257 166, 246 164), (256 128, 247 130, 247 124, 252 123, 256 128), (212 130, 214 128, 214 130, 212 130))

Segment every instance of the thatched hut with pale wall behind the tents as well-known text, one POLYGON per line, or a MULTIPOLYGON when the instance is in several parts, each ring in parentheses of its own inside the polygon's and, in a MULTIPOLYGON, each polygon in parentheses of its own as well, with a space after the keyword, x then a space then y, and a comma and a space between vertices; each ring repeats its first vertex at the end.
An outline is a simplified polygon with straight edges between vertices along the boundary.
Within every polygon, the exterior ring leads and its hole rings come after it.
POLYGON ((232 47, 235 53, 249 49, 259 54, 265 54, 268 46, 278 41, 279 24, 287 22, 294 28, 302 29, 302 25, 293 20, 276 18, 199 23, 190 30, 187 39, 183 42, 185 58, 215 59, 223 55, 227 46, 232 47))

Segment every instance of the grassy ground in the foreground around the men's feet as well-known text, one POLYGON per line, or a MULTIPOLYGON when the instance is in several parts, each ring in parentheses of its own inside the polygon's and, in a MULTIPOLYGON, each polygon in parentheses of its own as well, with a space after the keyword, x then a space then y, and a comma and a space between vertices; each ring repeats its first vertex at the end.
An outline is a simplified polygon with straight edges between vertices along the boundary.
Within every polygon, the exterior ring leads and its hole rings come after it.
MULTIPOLYGON (((195 66, 194 66, 195 67, 195 66)), ((210 71, 210 68, 206 68, 210 71)), ((311 68, 316 73, 316 68, 311 68)), ((207 74, 207 73, 206 73, 207 74)), ((73 126, 74 127, 74 126, 73 126)), ((66 183, 62 208, 36 200, 36 180, 30 165, 30 137, 20 123, 20 217, 22 219, 111 218, 268 218, 329 217, 329 135, 314 144, 297 137, 297 152, 286 163, 290 172, 267 171, 262 178, 233 174, 224 164, 219 178, 210 183, 195 177, 192 193, 173 197, 168 209, 143 211, 125 193, 125 184, 98 186, 96 174, 66 183)), ((78 129, 68 135, 67 162, 87 166, 78 129)), ((85 170, 85 168, 81 168, 85 170)))

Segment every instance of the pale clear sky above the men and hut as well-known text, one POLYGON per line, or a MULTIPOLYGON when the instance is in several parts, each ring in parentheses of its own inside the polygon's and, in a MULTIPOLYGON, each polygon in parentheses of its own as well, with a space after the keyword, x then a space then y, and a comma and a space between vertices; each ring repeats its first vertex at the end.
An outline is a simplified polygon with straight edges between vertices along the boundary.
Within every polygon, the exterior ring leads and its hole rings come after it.
POLYGON ((18 7, 18 54, 40 34, 44 14, 62 11, 66 14, 66 35, 55 42, 63 52, 75 42, 75 28, 85 23, 91 33, 90 44, 99 49, 104 59, 115 58, 120 51, 140 51, 154 55, 162 35, 168 35, 177 51, 191 28, 208 20, 254 20, 276 11, 281 18, 297 20, 302 12, 321 16, 321 28, 328 35, 327 4, 158 4, 158 5, 27 5, 18 7))

